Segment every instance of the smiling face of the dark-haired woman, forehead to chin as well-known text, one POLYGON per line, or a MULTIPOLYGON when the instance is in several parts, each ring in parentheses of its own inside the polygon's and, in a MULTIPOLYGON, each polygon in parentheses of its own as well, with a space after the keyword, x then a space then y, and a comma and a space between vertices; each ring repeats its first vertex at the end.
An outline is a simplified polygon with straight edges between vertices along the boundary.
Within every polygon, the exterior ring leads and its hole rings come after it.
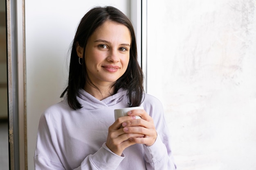
POLYGON ((94 31, 85 47, 86 70, 94 85, 111 85, 124 74, 130 44, 130 31, 122 24, 106 21, 94 31))

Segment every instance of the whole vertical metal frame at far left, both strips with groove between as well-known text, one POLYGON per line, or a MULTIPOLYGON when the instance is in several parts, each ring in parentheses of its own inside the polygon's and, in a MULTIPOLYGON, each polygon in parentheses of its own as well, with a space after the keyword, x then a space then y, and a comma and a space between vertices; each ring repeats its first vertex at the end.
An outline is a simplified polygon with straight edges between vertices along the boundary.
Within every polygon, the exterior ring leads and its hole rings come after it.
POLYGON ((9 169, 27 170, 24 0, 7 0, 9 169))

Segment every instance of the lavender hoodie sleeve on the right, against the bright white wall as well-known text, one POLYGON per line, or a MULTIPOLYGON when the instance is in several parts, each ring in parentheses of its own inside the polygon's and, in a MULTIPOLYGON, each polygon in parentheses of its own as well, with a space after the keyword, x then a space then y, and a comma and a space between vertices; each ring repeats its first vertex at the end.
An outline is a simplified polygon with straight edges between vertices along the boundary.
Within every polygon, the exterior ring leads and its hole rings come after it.
POLYGON ((175 170, 171 137, 164 119, 162 103, 155 97, 146 94, 144 109, 153 118, 157 130, 157 139, 152 146, 144 147, 144 157, 147 170, 175 170))

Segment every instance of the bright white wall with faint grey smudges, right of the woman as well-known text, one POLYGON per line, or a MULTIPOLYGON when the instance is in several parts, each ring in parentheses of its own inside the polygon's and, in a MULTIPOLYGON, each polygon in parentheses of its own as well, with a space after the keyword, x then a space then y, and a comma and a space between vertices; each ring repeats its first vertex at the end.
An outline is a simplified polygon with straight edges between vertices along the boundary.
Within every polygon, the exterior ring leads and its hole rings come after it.
POLYGON ((148 1, 147 87, 180 170, 256 169, 256 1, 148 1))

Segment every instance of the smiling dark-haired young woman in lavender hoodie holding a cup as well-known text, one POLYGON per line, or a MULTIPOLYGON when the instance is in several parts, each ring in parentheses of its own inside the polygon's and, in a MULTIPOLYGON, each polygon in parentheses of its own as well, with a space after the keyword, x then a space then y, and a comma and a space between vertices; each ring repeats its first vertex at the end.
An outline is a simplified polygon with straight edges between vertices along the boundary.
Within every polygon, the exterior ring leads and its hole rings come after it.
POLYGON ((96 7, 82 18, 64 95, 40 118, 36 170, 176 168, 162 104, 144 94, 135 32, 118 9, 96 7), (114 109, 135 106, 144 110, 115 121, 114 109))

